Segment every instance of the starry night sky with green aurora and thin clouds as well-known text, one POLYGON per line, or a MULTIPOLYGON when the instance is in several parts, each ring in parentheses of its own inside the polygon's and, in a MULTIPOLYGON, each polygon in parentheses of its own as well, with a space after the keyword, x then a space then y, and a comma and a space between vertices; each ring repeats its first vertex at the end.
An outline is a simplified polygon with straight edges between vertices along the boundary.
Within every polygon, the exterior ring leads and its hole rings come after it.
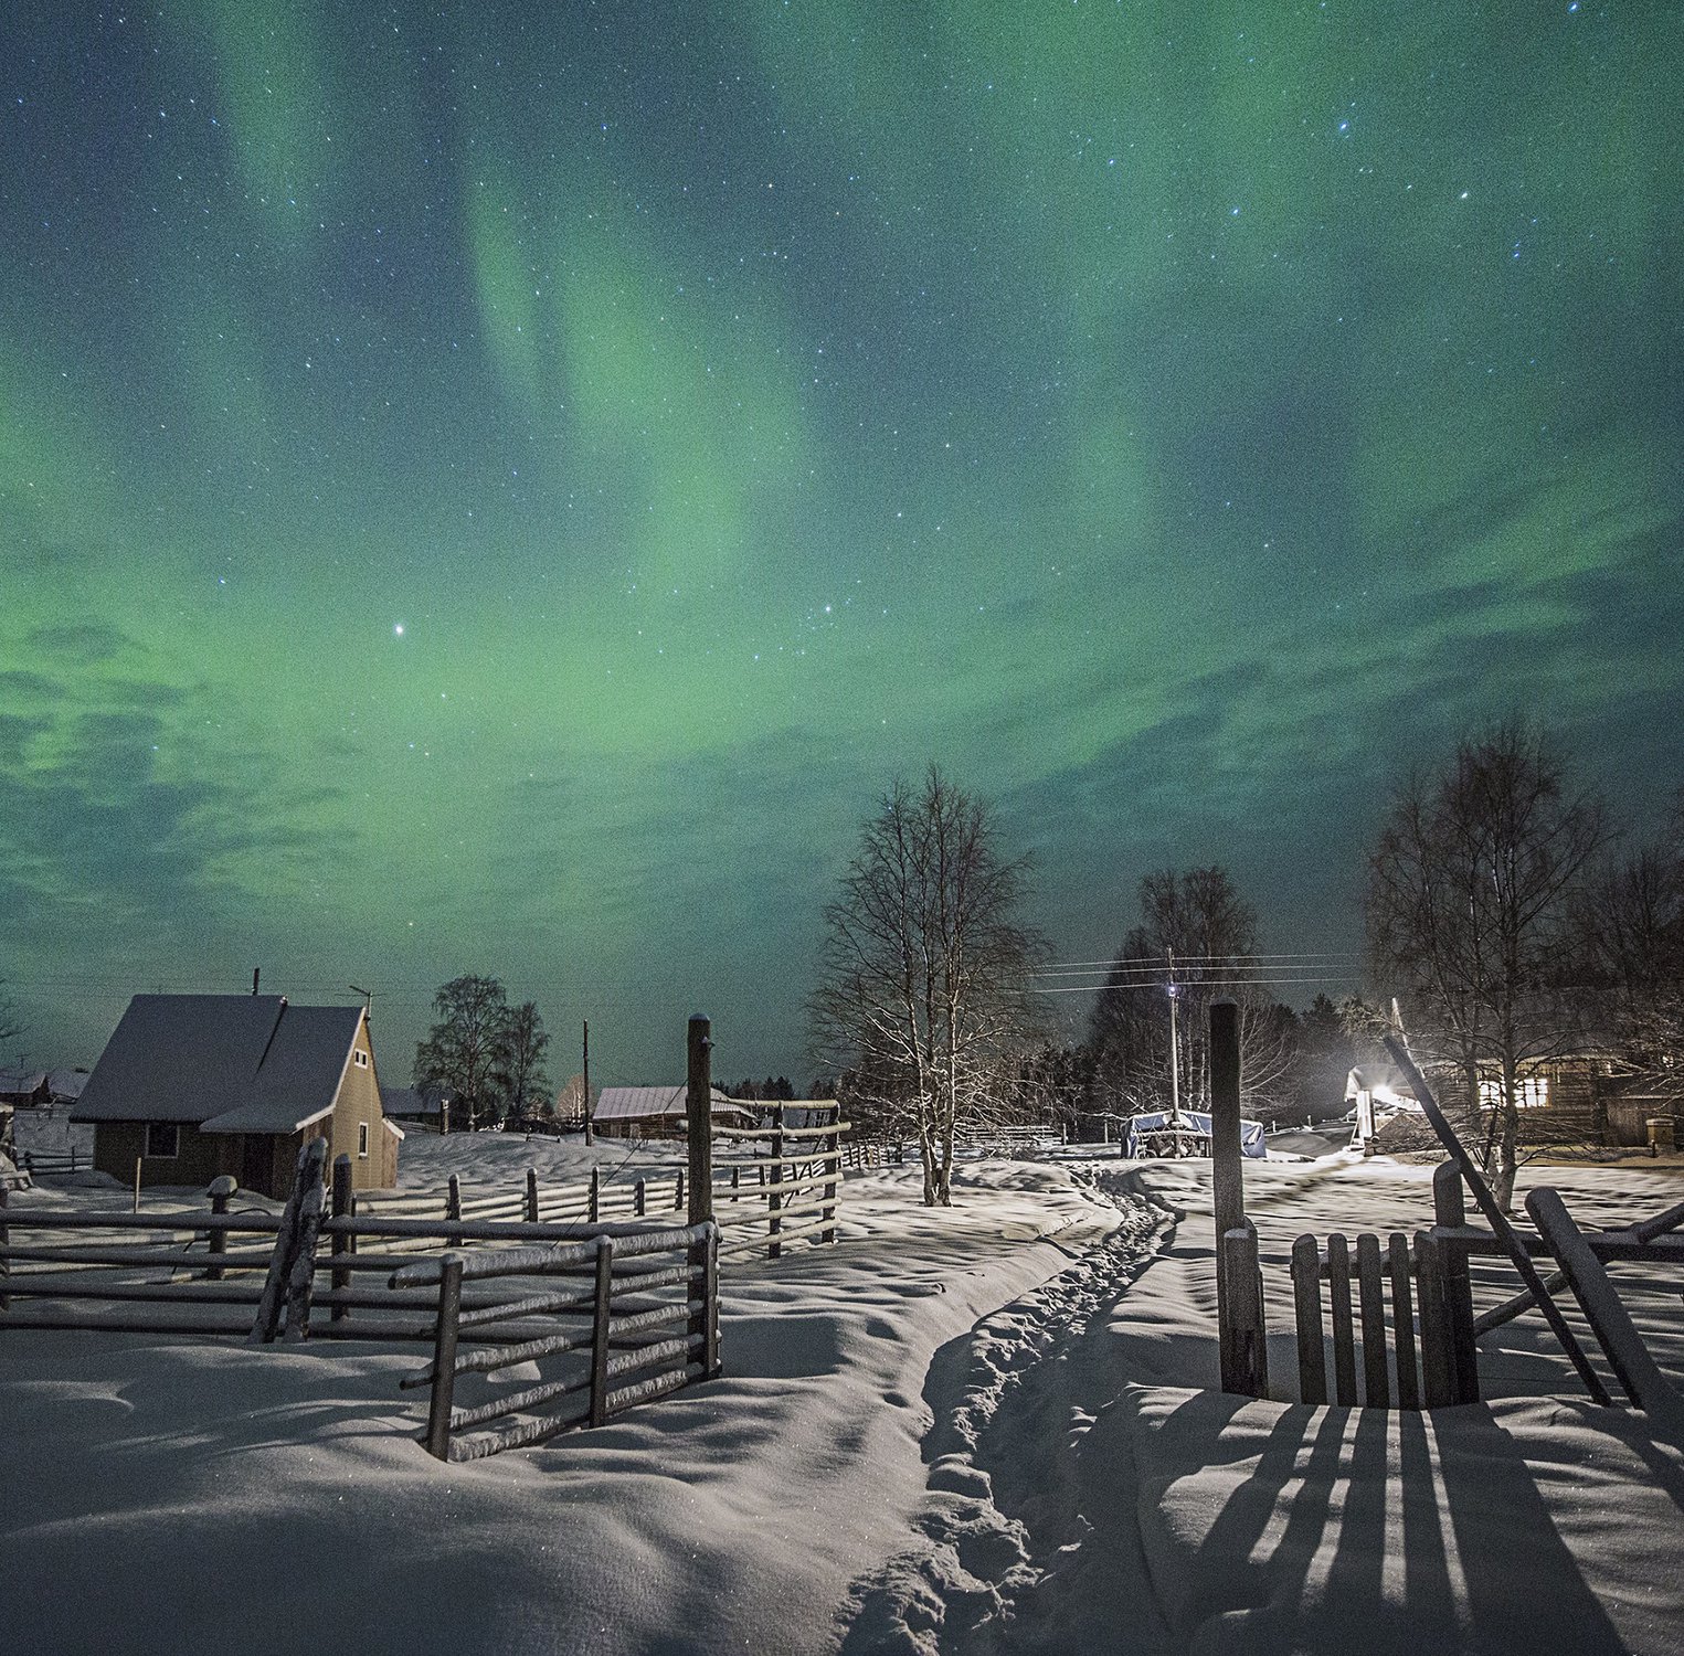
POLYGON ((483 971, 557 1082, 706 1010, 805 1084, 930 759, 1059 959, 1211 860, 1356 951, 1386 789, 1516 707, 1645 828, 1681 62, 1659 0, 8 7, 0 1060, 261 964, 387 1082, 483 971))

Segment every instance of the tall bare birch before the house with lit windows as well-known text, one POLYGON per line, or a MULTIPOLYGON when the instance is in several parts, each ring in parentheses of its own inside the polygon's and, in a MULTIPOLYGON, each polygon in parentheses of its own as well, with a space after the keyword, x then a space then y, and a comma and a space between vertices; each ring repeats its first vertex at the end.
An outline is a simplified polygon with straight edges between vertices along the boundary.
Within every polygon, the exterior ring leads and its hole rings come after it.
POLYGON ((1423 1069, 1453 1080, 1468 1119, 1492 1104, 1487 1168, 1514 1200, 1521 1082, 1573 1040, 1561 947, 1607 841, 1601 803, 1519 720, 1411 776, 1369 857, 1371 969, 1396 995, 1423 1069))

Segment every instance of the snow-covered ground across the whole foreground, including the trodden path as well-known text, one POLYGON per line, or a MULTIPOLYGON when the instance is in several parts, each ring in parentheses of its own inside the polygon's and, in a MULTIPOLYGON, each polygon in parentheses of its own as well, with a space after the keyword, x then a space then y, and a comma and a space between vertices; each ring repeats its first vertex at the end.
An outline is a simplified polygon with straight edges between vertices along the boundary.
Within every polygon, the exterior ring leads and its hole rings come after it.
MULTIPOLYGON (((584 1154, 413 1136, 406 1183, 512 1181, 534 1149, 584 1154)), ((1551 1176, 1586 1222, 1679 1192, 1551 1176)), ((1246 1183, 1278 1291, 1300 1230, 1431 1215, 1418 1168, 1246 1183)), ((1509 1402, 1228 1399, 1206 1163, 968 1163, 951 1212, 918 1190, 852 1178, 835 1249, 727 1281, 722 1378, 488 1462, 414 1442, 414 1348, 0 1335, 7 1649, 1684 1648, 1684 1456, 1576 1400, 1536 1319, 1482 1346, 1509 1402)), ((1677 1294, 1633 1308, 1684 1370, 1677 1294)))

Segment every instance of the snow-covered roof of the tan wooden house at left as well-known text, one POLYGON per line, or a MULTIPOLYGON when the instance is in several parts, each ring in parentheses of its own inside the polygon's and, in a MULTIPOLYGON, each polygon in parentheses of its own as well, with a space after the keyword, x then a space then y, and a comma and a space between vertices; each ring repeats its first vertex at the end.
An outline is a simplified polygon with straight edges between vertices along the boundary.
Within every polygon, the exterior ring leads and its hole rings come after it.
POLYGON ((281 995, 136 995, 71 1121, 295 1133, 333 1107, 362 1016, 281 995))

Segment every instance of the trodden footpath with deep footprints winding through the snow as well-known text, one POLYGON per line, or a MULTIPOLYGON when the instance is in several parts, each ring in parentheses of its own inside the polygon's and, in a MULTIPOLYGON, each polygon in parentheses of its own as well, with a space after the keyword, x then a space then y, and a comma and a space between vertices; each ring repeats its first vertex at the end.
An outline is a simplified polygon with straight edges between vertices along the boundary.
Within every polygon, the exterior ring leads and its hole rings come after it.
POLYGON ((916 1540, 855 1584, 842 1656, 1170 1648, 1127 1459, 1083 1451, 1123 1390, 1118 1301, 1164 1261, 1174 1213, 1127 1173, 1095 1183, 1118 1230, 936 1353, 916 1540))

